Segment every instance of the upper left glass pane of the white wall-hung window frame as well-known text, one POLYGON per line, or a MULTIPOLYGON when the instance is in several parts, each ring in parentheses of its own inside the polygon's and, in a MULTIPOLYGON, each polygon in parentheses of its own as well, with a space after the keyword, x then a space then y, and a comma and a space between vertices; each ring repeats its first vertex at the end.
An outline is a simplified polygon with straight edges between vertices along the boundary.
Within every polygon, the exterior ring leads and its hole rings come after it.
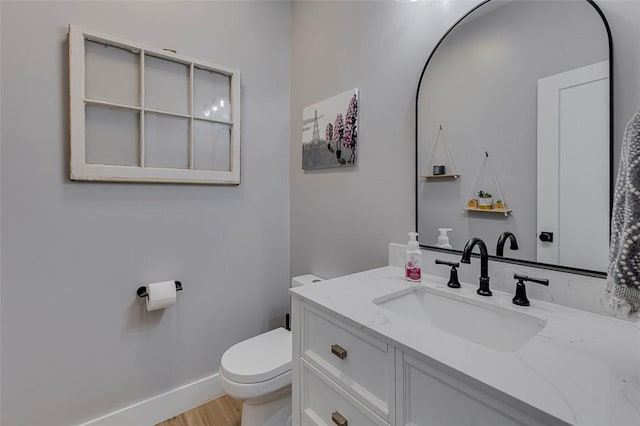
POLYGON ((85 40, 85 96, 140 105, 140 55, 85 40))

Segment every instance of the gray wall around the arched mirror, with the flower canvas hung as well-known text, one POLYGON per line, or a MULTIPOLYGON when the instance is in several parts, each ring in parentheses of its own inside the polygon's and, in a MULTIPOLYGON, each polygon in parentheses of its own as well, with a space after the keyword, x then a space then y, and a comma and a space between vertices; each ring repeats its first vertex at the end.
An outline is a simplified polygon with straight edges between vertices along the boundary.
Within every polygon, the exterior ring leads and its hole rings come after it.
MULTIPOLYGON (((414 117, 429 52, 477 2, 294 2, 292 6, 291 272, 328 277, 380 266, 414 228, 414 117), (354 170, 301 170, 301 111, 358 87, 354 170)), ((614 42, 615 162, 640 107, 640 2, 603 0, 614 42)))

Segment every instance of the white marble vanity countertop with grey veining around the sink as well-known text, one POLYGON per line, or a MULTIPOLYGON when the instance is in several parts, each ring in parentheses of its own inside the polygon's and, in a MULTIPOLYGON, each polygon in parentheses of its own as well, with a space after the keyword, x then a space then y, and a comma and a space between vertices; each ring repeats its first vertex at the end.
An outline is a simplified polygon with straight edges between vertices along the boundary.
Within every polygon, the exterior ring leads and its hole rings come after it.
MULTIPOLYGON (((410 354, 426 356, 574 425, 640 425, 640 328, 637 324, 513 294, 475 293, 476 285, 450 289, 426 275, 422 283, 547 322, 516 352, 501 352, 384 309, 374 299, 415 286, 402 268, 386 266, 291 289, 320 307, 410 354)), ((529 284, 536 285, 536 284, 529 284)), ((514 285, 515 289, 515 285, 514 285)))

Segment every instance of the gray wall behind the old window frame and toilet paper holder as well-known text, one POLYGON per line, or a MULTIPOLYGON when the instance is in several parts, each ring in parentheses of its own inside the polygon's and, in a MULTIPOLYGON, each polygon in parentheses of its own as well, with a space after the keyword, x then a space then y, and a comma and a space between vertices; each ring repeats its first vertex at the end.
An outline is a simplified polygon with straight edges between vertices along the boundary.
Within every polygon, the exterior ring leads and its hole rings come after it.
POLYGON ((2 2, 2 423, 63 425, 217 372, 288 309, 288 2, 2 2), (240 69, 238 187, 68 180, 67 25, 240 69), (136 288, 179 279, 147 313, 136 288))

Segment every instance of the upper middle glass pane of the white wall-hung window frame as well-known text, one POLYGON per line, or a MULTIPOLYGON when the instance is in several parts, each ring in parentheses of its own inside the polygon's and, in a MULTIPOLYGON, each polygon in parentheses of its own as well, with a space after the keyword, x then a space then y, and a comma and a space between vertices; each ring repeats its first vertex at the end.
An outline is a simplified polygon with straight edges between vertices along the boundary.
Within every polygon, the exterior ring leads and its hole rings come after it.
POLYGON ((145 56, 145 108, 189 114, 189 67, 145 56))

